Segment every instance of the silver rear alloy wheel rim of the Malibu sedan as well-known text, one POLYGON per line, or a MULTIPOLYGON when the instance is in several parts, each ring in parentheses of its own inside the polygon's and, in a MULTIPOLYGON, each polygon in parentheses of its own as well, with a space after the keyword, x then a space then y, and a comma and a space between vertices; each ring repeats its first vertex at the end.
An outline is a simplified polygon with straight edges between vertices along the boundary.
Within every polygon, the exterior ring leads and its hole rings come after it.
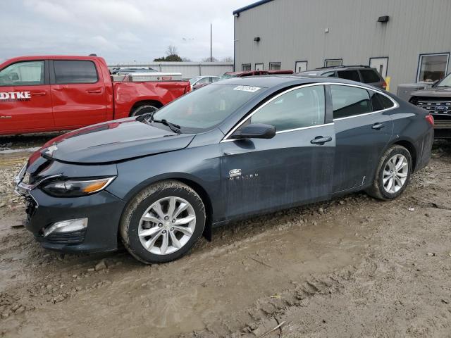
POLYGON ((404 155, 391 157, 383 169, 383 189, 389 194, 399 192, 409 175, 409 163, 404 155))

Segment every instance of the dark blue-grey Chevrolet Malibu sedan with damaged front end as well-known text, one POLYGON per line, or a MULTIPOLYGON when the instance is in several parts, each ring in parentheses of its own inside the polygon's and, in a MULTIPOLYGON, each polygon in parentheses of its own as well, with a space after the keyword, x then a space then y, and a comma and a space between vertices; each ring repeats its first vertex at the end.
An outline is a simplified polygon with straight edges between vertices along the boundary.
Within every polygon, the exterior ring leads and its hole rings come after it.
POLYGON ((374 87, 238 77, 52 139, 16 189, 45 248, 111 251, 119 239, 163 263, 233 220, 359 190, 396 199, 432 142, 428 112, 374 87))

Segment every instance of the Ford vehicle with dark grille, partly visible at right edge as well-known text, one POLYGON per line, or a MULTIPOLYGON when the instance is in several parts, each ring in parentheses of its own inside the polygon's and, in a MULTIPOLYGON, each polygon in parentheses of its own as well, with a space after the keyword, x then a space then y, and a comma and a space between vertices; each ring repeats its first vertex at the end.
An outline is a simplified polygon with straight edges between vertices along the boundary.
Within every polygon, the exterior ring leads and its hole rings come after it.
POLYGON ((433 115, 435 138, 451 139, 451 73, 431 88, 412 92, 409 102, 433 115))

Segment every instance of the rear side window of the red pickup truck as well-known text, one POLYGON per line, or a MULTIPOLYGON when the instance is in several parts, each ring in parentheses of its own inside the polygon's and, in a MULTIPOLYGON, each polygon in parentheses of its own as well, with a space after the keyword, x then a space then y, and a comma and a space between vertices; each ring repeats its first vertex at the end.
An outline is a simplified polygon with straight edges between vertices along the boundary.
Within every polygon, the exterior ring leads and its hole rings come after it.
POLYGON ((95 83, 99 80, 92 61, 55 60, 54 68, 56 84, 95 83))

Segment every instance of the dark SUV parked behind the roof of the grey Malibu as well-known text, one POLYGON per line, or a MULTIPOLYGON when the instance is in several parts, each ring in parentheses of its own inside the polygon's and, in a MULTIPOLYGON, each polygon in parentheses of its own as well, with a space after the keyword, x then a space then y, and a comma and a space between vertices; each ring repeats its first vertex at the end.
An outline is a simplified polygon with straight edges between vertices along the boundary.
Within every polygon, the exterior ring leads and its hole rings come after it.
POLYGON ((306 70, 296 75, 313 75, 325 77, 340 77, 341 79, 352 80, 370 84, 371 86, 386 89, 387 84, 376 68, 369 65, 338 65, 334 67, 321 67, 314 70, 306 70))

